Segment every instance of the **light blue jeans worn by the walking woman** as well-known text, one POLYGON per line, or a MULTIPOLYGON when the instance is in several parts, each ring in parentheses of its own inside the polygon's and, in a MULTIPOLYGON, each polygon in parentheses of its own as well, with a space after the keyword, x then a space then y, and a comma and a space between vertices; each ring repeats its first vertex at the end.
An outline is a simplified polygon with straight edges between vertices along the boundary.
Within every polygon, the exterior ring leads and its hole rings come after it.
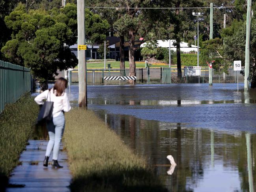
POLYGON ((49 142, 46 148, 45 156, 50 157, 50 153, 53 149, 53 160, 58 160, 60 151, 60 142, 65 127, 65 117, 63 112, 57 117, 53 117, 51 121, 47 121, 47 130, 49 134, 49 142))

